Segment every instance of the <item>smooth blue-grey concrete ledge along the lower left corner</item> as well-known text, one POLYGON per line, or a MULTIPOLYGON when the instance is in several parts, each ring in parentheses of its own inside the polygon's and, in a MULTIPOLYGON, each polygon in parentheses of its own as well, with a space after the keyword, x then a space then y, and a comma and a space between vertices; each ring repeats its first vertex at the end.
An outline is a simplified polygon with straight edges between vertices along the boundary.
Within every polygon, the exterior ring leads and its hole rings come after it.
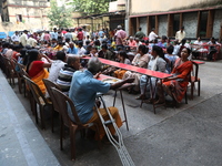
POLYGON ((0 93, 0 166, 59 166, 1 72, 0 93))

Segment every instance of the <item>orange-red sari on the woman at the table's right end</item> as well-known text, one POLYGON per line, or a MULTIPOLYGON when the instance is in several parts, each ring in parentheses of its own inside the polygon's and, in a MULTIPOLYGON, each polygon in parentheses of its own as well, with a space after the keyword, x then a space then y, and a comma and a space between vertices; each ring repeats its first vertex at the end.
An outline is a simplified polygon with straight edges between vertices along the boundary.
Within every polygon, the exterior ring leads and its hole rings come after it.
POLYGON ((192 69, 193 64, 191 61, 181 64, 181 59, 178 59, 172 71, 172 74, 176 75, 178 79, 163 82, 163 89, 167 89, 167 92, 170 92, 178 103, 185 95, 192 69))

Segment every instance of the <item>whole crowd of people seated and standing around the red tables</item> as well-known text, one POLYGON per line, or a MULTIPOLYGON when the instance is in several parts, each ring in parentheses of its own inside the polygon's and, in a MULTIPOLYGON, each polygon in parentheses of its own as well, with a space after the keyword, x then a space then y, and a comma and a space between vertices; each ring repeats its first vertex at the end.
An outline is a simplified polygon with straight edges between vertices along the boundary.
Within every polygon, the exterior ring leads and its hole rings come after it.
MULTIPOLYGON (((201 38, 194 44, 201 45, 201 38)), ((215 53, 215 45, 219 43, 211 38, 208 44, 211 45, 208 56, 211 60, 215 53)), ((198 48, 194 52, 198 54, 200 49, 198 48)), ((99 121, 93 107, 97 92, 107 93, 124 83, 133 82, 134 86, 129 89, 129 93, 140 93, 137 96, 138 100, 149 98, 151 87, 154 89, 157 82, 154 77, 148 82, 147 76, 140 73, 102 65, 98 58, 151 71, 172 73, 172 77, 163 80, 162 84, 157 84, 155 95, 159 98, 157 103, 164 102, 163 91, 181 102, 192 70, 191 44, 185 39, 184 27, 176 32, 174 41, 165 35, 160 38, 154 29, 148 37, 141 28, 134 37, 128 37, 121 25, 118 25, 114 32, 101 29, 89 33, 82 28, 73 30, 54 28, 52 32, 41 33, 29 33, 24 30, 20 35, 16 31, 11 37, 11 43, 1 43, 1 53, 24 65, 28 75, 39 85, 43 94, 48 95, 42 79, 49 79, 58 84, 61 91, 73 101, 82 123, 99 121), (129 59, 129 53, 133 54, 132 61, 129 59), (91 59, 87 62, 80 59, 82 56, 91 59), (94 77, 100 72, 122 81, 114 84, 98 81, 94 77), (160 85, 163 85, 163 89, 160 85)), ((198 56, 195 53, 193 53, 194 58, 198 56)), ((103 116, 107 116, 103 110, 101 112, 103 116)), ((122 123, 118 110, 110 107, 110 112, 120 127, 122 123)), ((103 136, 104 132, 99 138, 103 136)))

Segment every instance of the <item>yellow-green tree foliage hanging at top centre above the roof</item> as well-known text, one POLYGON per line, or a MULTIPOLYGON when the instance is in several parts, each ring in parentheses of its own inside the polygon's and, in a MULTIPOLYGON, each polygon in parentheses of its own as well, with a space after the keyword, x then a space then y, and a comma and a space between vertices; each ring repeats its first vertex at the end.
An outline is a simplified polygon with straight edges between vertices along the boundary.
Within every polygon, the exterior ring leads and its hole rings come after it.
POLYGON ((110 0, 72 0, 74 11, 81 12, 83 15, 100 14, 108 12, 110 0))

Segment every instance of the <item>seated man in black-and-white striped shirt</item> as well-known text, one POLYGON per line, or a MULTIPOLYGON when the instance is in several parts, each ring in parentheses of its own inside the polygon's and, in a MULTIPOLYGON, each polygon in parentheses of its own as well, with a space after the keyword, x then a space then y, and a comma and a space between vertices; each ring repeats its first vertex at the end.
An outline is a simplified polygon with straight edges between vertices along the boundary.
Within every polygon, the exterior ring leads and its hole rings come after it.
POLYGON ((57 84, 64 94, 69 94, 72 75, 80 69, 80 59, 78 56, 69 56, 67 64, 60 70, 57 84))

